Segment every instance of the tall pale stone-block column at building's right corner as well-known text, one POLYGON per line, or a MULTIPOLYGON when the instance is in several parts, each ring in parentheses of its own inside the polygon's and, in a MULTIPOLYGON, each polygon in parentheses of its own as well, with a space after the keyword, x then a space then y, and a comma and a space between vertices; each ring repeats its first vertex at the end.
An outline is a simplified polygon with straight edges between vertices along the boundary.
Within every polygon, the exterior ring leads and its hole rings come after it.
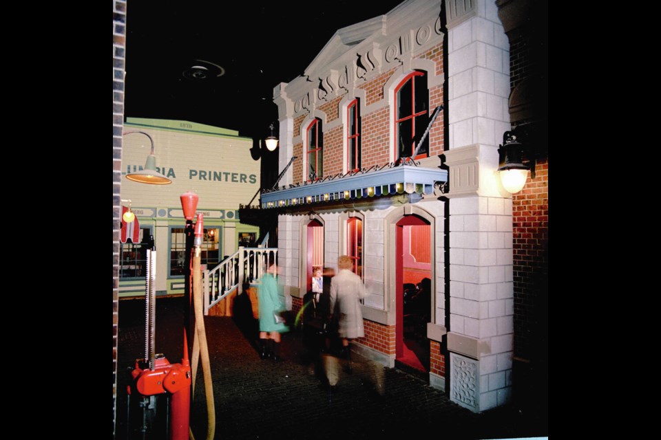
POLYGON ((492 0, 448 0, 450 399, 474 412, 510 401, 512 199, 497 179, 510 129, 509 42, 492 0))

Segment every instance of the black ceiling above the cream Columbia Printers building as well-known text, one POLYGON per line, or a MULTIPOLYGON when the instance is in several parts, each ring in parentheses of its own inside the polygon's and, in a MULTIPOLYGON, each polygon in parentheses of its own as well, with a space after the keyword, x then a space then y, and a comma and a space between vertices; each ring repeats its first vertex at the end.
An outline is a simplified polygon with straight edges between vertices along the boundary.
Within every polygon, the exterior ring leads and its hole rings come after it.
POLYGON ((125 116, 263 138, 277 120, 273 87, 302 74, 337 29, 399 3, 129 0, 125 116))

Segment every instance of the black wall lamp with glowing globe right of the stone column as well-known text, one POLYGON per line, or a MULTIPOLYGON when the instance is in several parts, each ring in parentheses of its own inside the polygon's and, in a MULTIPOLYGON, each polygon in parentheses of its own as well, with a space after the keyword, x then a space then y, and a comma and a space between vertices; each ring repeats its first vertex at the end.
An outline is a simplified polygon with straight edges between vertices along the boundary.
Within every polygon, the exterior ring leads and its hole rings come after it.
POLYGON ((503 187, 510 193, 515 194, 523 189, 530 170, 530 177, 535 178, 535 158, 530 148, 518 142, 514 131, 503 133, 503 144, 498 148, 499 174, 503 187), (524 155, 527 164, 524 164, 524 155))

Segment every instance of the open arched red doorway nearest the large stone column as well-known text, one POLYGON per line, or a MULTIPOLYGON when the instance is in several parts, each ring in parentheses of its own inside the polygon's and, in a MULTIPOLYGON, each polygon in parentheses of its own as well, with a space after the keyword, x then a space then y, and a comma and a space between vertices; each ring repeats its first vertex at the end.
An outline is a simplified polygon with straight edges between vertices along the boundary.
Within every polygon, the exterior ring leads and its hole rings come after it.
POLYGON ((430 369, 431 230, 430 223, 415 214, 405 215, 395 225, 395 362, 421 373, 430 369))

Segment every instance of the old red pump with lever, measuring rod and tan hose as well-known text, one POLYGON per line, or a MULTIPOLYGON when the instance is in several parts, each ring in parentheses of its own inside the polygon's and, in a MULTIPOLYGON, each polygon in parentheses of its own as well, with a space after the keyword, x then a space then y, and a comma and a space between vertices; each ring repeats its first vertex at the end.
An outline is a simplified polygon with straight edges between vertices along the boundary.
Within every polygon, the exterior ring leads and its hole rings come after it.
MULTIPOLYGON (((187 219, 186 236, 193 235, 192 219, 197 208, 198 196, 193 192, 186 192, 181 195, 184 217, 187 219)), ((188 347, 188 319, 184 324, 183 356, 179 364, 171 364, 165 355, 156 353, 154 349, 154 340, 156 333, 156 252, 154 249, 154 240, 151 239, 151 249, 147 250, 147 286, 145 288, 145 358, 136 360, 135 367, 131 373, 132 385, 128 387, 129 410, 130 396, 137 395, 139 399, 139 408, 142 410, 141 426, 139 428, 142 439, 169 439, 169 440, 187 440, 189 434, 193 438, 190 430, 190 406, 191 394, 195 388, 195 375, 197 371, 197 362, 202 355, 202 370, 204 372, 205 393, 207 395, 207 415, 209 424, 207 429, 207 439, 213 439, 216 429, 216 416, 213 404, 213 388, 211 388, 211 369, 209 366, 209 350, 207 347, 207 337, 204 330, 204 311, 202 306, 202 271, 200 266, 201 245, 204 236, 204 221, 202 214, 197 214, 197 222, 194 225, 194 240, 191 247, 191 241, 187 239, 187 262, 191 262, 192 271, 189 271, 186 290, 186 318, 189 316, 189 307, 191 303, 191 284, 193 292, 193 305, 195 310, 196 338, 193 339, 193 368, 189 362, 188 347), (191 249, 192 248, 192 249, 191 249), (191 254, 192 250, 192 254, 191 254), (192 278, 192 283, 190 282, 192 278), (192 387, 191 387, 192 385, 192 387), (157 421, 157 398, 167 397, 167 422, 165 428, 157 421), (148 437, 149 435, 149 437, 148 437)), ((187 266, 190 267, 190 266, 187 266)), ((158 411, 158 415, 162 411, 158 411)), ((158 420, 162 420, 162 417, 158 420)), ((127 426, 130 423, 127 422, 127 426)))

